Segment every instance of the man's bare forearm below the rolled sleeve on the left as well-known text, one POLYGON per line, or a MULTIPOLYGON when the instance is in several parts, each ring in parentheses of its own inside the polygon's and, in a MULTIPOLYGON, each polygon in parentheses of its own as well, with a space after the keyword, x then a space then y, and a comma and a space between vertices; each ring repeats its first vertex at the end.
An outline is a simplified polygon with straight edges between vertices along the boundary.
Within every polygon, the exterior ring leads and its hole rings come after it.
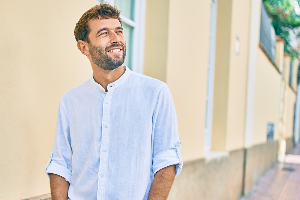
POLYGON ((50 174, 50 189, 52 200, 67 200, 70 183, 64 177, 50 174))

